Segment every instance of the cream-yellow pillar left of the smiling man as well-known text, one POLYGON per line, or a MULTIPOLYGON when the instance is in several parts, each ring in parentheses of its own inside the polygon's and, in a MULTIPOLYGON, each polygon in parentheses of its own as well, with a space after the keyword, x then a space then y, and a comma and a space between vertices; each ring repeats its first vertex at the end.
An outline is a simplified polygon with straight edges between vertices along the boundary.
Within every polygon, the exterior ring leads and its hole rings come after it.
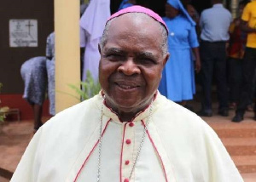
POLYGON ((55 0, 55 111, 79 103, 79 97, 67 84, 79 88, 79 1, 55 0), (68 94, 63 94, 68 93, 68 94))

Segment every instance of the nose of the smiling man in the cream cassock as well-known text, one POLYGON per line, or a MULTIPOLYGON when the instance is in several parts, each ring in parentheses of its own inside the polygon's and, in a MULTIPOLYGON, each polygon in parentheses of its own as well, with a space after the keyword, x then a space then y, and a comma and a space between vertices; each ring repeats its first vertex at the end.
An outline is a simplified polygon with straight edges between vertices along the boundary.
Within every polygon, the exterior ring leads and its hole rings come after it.
POLYGON ((118 71, 128 76, 141 73, 141 70, 135 63, 134 58, 131 57, 129 57, 122 63, 122 65, 119 66, 118 71))

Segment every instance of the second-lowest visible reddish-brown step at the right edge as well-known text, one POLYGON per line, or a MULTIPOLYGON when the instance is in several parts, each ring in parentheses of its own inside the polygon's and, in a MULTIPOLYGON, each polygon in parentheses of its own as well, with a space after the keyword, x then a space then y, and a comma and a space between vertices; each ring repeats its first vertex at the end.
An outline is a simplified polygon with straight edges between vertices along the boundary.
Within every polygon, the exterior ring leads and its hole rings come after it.
MULTIPOLYGON (((240 173, 256 173, 255 156, 231 156, 240 173)), ((256 180, 255 180, 256 181, 256 180)))

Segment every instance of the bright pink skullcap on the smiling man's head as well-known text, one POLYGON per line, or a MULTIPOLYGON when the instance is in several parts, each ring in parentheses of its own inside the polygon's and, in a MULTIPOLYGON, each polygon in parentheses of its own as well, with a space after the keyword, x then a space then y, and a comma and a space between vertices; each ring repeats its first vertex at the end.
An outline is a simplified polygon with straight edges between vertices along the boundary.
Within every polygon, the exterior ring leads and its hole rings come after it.
MULTIPOLYGON (((152 11, 151 9, 146 9, 142 6, 131 6, 131 7, 128 7, 126 9, 121 9, 119 10, 118 12, 116 12, 115 14, 112 14, 108 20, 107 20, 107 23, 109 20, 112 20, 113 18, 116 18, 116 17, 119 17, 120 15, 122 14, 129 14, 129 13, 143 13, 143 14, 148 14, 148 16, 152 17, 154 20, 160 22, 160 24, 162 24, 163 26, 165 26, 166 28, 166 31, 167 31, 167 34, 169 33, 168 31, 168 28, 166 26, 166 23, 164 20, 162 20, 162 18, 160 17, 160 15, 154 13, 154 11, 152 11)), ((106 23, 106 24, 107 24, 106 23)))

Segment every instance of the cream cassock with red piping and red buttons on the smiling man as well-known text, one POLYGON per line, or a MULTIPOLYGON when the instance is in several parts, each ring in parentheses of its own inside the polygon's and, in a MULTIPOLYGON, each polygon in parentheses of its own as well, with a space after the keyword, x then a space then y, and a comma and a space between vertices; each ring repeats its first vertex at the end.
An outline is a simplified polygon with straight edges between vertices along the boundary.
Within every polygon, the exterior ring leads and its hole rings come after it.
MULTIPOLYGON (((12 182, 96 182, 103 113, 101 182, 123 182, 137 156, 149 108, 131 122, 101 94, 61 111, 34 135, 12 182), (132 123, 132 124, 131 124, 132 123)), ((241 182, 224 145, 195 113, 159 93, 130 182, 241 182)))

